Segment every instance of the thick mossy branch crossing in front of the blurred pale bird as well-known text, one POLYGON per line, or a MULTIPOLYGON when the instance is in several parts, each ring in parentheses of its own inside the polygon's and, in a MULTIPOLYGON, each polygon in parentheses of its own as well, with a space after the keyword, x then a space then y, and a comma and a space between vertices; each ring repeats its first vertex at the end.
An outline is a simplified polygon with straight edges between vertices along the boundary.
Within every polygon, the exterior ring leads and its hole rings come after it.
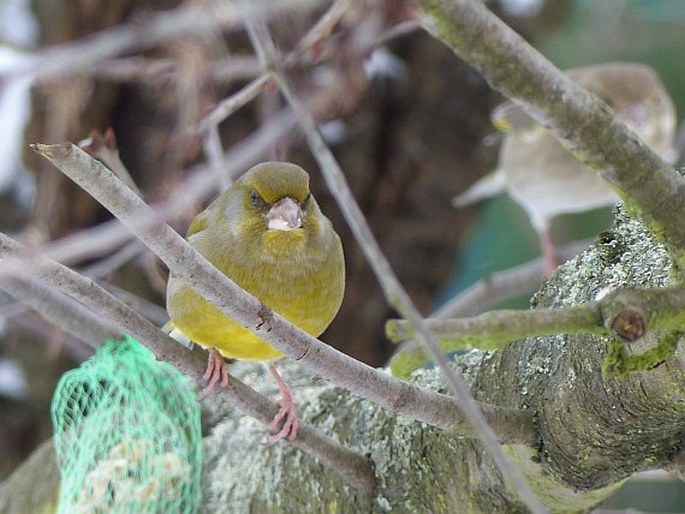
POLYGON ((685 179, 476 0, 415 0, 420 23, 616 190, 685 272, 685 179), (487 35, 487 37, 483 37, 487 35))

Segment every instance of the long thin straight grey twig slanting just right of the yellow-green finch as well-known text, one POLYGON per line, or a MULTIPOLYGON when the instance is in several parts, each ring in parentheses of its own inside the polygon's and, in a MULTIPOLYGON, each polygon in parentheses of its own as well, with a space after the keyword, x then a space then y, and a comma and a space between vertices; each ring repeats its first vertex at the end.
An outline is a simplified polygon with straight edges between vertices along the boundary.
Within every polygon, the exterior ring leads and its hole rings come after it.
MULTIPOLYGON (((268 32, 266 30, 260 31, 258 30, 258 27, 259 24, 255 23, 252 17, 246 17, 246 28, 251 37, 252 44, 255 47, 257 54, 260 56, 260 59, 262 59, 263 64, 268 69, 269 67, 276 65, 276 56, 271 50, 271 48, 273 48, 273 43, 270 38, 267 40, 263 39, 263 33, 266 33, 268 36, 268 32)), ((262 27, 264 26, 262 25, 262 27)), ((412 323, 420 334, 421 339, 430 349, 437 365, 444 373, 451 391, 458 399, 461 410, 468 420, 468 423, 473 427, 473 432, 482 438, 498 468, 509 480, 509 486, 521 497, 531 511, 536 513, 546 512, 547 509, 540 500, 538 500, 530 486, 523 480, 520 472, 502 451, 498 444, 497 435, 488 425, 483 412, 478 406, 478 402, 471 396, 466 383, 461 376, 459 376, 458 372, 449 365, 447 357, 440 350, 438 342, 425 326, 421 314, 412 303, 407 292, 401 286, 390 263, 378 246, 378 242, 373 236, 361 209, 354 200, 352 192, 347 185, 335 157, 333 157, 330 149, 326 146, 323 138, 317 131, 315 120, 311 117, 300 99, 296 97, 283 73, 278 69, 274 69, 274 77, 278 82, 283 96, 285 96, 297 115, 300 126, 305 132, 305 137, 310 150, 321 168, 328 189, 335 197, 366 260, 374 270, 388 303, 412 323)))

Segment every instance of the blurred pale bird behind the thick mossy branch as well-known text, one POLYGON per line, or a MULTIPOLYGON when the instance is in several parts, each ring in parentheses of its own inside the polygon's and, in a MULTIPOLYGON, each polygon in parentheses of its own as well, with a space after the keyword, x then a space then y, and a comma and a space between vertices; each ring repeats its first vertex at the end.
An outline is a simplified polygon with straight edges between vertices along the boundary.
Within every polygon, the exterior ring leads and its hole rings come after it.
MULTIPOLYGON (((614 62, 566 74, 604 100, 652 150, 672 159, 675 109, 654 70, 642 64, 614 62)), ((528 214, 540 239, 547 275, 551 275, 556 268, 549 236, 552 218, 610 205, 618 196, 520 106, 503 103, 493 111, 492 121, 506 133, 499 165, 493 174, 456 197, 454 204, 462 207, 506 190, 528 214)))

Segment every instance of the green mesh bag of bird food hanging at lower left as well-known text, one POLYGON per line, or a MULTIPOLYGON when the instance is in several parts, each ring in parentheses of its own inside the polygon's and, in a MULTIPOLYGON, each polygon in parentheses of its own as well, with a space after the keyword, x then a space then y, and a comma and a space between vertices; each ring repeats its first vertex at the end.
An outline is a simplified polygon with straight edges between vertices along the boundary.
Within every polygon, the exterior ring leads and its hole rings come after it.
POLYGON ((108 341, 52 401, 60 513, 195 512, 200 407, 189 379, 131 338, 108 341))

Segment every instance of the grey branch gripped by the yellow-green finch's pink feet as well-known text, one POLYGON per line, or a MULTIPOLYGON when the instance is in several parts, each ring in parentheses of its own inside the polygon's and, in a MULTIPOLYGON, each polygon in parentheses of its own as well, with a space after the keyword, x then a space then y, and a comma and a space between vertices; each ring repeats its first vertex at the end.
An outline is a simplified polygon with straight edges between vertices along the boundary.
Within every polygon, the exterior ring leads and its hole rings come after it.
MULTIPOLYGON (((25 250, 0 234, 0 261, 4 266, 20 266, 26 271, 26 261, 17 261, 25 250)), ((30 276, 16 272, 2 277, 0 288, 93 347, 127 332, 160 360, 171 363, 194 381, 201 379, 205 368, 201 352, 183 348, 95 282, 46 257, 31 260, 30 271, 30 276)), ((230 405, 264 424, 269 424, 278 410, 271 400, 233 376, 221 394, 230 405)), ((368 460, 312 427, 300 425, 297 440, 289 444, 319 459, 360 490, 373 489, 375 478, 368 460)))

